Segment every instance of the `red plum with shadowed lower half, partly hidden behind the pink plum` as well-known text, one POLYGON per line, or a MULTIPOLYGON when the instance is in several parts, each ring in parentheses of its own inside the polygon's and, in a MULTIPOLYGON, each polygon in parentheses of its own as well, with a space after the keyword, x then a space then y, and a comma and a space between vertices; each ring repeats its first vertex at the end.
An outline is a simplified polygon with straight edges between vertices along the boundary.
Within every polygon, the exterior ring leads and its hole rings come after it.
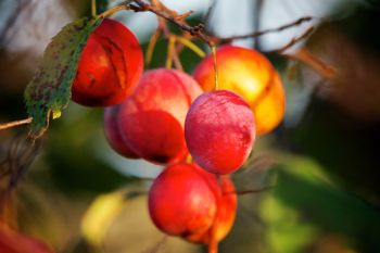
POLYGON ((156 164, 183 160, 185 117, 202 93, 186 73, 156 68, 145 72, 135 92, 122 104, 118 126, 124 141, 137 155, 156 164))

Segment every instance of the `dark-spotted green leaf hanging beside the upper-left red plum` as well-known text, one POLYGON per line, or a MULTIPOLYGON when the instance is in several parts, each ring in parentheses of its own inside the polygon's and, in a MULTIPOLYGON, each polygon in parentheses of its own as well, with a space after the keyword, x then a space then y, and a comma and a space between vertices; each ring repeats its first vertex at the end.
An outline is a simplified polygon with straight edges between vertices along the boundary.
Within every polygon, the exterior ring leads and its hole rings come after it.
POLYGON ((84 17, 64 26, 45 50, 43 59, 25 89, 27 113, 33 117, 29 136, 40 137, 71 100, 71 88, 80 53, 91 31, 102 22, 84 17))

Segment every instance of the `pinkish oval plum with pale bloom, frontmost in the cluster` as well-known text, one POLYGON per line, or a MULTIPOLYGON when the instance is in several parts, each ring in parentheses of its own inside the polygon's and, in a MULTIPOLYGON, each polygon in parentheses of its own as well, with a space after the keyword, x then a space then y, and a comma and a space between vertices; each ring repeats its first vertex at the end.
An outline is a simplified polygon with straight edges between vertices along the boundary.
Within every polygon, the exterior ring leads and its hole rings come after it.
POLYGON ((253 113, 235 92, 205 92, 190 106, 185 138, 201 167, 219 175, 233 173, 246 161, 255 141, 253 113))

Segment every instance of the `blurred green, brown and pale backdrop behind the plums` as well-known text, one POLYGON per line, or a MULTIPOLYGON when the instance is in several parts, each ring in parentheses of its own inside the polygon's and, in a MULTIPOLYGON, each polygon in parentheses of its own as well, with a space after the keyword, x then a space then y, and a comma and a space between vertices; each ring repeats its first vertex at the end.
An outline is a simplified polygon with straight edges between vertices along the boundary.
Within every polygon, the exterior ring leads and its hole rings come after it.
MULTIPOLYGON (((117 2, 98 0, 98 12, 117 2)), ((191 24, 203 22, 208 33, 221 37, 314 17, 233 41, 269 52, 315 27, 287 55, 268 53, 287 90, 287 114, 275 131, 258 137, 233 180, 241 191, 275 187, 239 197, 236 224, 219 251, 380 252, 380 2, 163 2, 178 12, 193 10, 191 24), (300 58, 300 49, 313 56, 300 58)), ((84 15, 90 15, 89 0, 0 1, 0 123, 27 117, 23 91, 43 49, 63 25, 84 15)), ((150 13, 119 12, 114 18, 130 27, 144 49, 157 25, 150 13)), ((150 67, 165 63, 166 41, 156 47, 150 67)), ((180 59, 188 73, 200 61, 186 49, 180 59)), ((112 151, 102 114, 71 103, 51 123, 16 193, 2 199, 2 218, 17 220, 12 226, 22 233, 62 253, 205 252, 153 227, 147 191, 162 167, 112 151)), ((1 161, 25 130, 0 131, 1 161)))

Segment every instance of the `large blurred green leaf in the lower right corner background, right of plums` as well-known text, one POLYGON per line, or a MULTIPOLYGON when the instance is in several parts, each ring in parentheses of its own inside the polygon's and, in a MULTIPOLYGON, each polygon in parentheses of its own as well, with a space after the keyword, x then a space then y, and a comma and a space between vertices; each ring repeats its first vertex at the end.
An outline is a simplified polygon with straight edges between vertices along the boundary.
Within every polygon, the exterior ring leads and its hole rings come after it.
POLYGON ((307 252, 328 232, 346 238, 360 252, 380 250, 380 212, 341 189, 312 160, 286 159, 273 180, 277 186, 261 206, 271 252, 307 252))

